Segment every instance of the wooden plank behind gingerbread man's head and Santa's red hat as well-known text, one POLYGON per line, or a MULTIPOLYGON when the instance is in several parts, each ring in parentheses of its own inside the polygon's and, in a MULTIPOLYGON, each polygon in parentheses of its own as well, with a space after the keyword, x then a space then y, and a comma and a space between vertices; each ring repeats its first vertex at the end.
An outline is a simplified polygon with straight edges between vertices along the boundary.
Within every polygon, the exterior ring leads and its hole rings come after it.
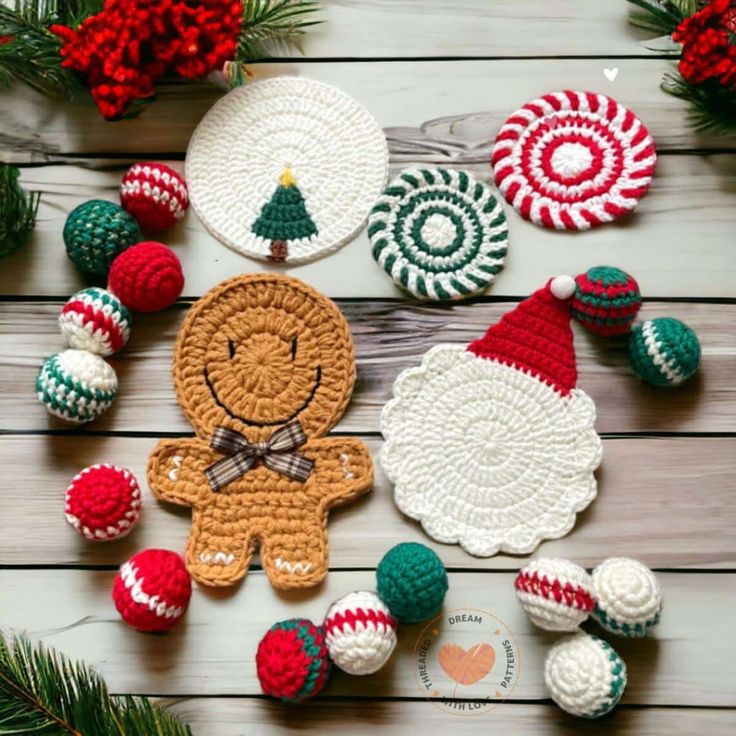
MULTIPOLYGON (((541 284, 539 284, 541 286, 541 284)), ((467 344, 515 306, 477 302, 419 306, 404 302, 340 302, 356 343, 358 380, 341 432, 377 432, 379 414, 404 368, 442 342, 467 344)), ((0 430, 70 429, 37 401, 42 360, 62 349, 59 304, 0 303, 0 430)), ((128 346, 111 360, 120 381, 112 408, 90 430, 191 432, 176 403, 171 354, 185 310, 135 320, 128 346)), ((689 324, 703 346, 702 369, 676 390, 639 381, 623 342, 600 341, 574 325, 578 385, 596 402, 599 432, 723 432, 733 429, 736 361, 732 325, 736 305, 648 302, 647 318, 672 316, 689 324)))

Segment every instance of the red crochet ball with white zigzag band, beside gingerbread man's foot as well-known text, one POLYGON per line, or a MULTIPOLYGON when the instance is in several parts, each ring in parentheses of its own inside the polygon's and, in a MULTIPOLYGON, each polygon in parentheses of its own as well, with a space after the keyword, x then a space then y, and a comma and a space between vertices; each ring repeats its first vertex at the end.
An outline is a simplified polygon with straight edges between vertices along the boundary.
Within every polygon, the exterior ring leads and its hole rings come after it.
POLYGON ((166 631, 186 612, 192 581, 184 560, 167 549, 133 555, 115 576, 112 598, 123 621, 138 631, 166 631))

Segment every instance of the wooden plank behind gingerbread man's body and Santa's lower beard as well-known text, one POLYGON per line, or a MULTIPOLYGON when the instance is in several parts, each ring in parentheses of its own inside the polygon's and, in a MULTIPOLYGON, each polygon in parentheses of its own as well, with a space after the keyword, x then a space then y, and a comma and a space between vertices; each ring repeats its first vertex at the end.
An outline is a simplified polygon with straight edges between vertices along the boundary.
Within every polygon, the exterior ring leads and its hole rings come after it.
MULTIPOLYGON (((332 569, 375 567, 399 540, 433 547, 453 569, 516 570, 523 564, 524 557, 477 558, 457 545, 432 542, 394 505, 379 460, 381 441, 365 441, 374 457, 375 485, 365 498, 330 515, 332 569)), ((0 475, 2 564, 119 565, 147 547, 183 550, 189 510, 158 503, 145 485, 155 444, 142 437, 0 435, 0 467, 10 469, 0 475), (99 462, 129 468, 143 487, 138 527, 114 544, 90 544, 63 517, 64 491, 72 477, 99 462)), ((604 557, 634 553, 655 568, 736 567, 736 505, 731 502, 736 439, 604 440, 597 477, 598 497, 572 532, 544 542, 538 555, 567 557, 589 567, 604 557)))

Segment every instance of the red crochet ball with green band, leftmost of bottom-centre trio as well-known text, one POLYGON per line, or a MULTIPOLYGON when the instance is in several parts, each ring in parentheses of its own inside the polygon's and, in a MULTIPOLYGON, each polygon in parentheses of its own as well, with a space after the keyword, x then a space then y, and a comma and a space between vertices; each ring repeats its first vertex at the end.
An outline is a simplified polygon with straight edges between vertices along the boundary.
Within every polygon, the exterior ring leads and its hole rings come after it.
POLYGON ((306 618, 275 623, 258 644, 256 671, 266 695, 291 702, 315 696, 330 672, 324 629, 306 618))

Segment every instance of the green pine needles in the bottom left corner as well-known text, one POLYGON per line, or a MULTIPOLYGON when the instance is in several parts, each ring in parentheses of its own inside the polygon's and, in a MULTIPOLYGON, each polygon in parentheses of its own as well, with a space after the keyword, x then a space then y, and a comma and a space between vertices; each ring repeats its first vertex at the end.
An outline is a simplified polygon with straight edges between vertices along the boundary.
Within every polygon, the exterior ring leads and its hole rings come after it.
POLYGON ((147 698, 116 697, 84 664, 0 636, 0 736, 192 736, 147 698))

